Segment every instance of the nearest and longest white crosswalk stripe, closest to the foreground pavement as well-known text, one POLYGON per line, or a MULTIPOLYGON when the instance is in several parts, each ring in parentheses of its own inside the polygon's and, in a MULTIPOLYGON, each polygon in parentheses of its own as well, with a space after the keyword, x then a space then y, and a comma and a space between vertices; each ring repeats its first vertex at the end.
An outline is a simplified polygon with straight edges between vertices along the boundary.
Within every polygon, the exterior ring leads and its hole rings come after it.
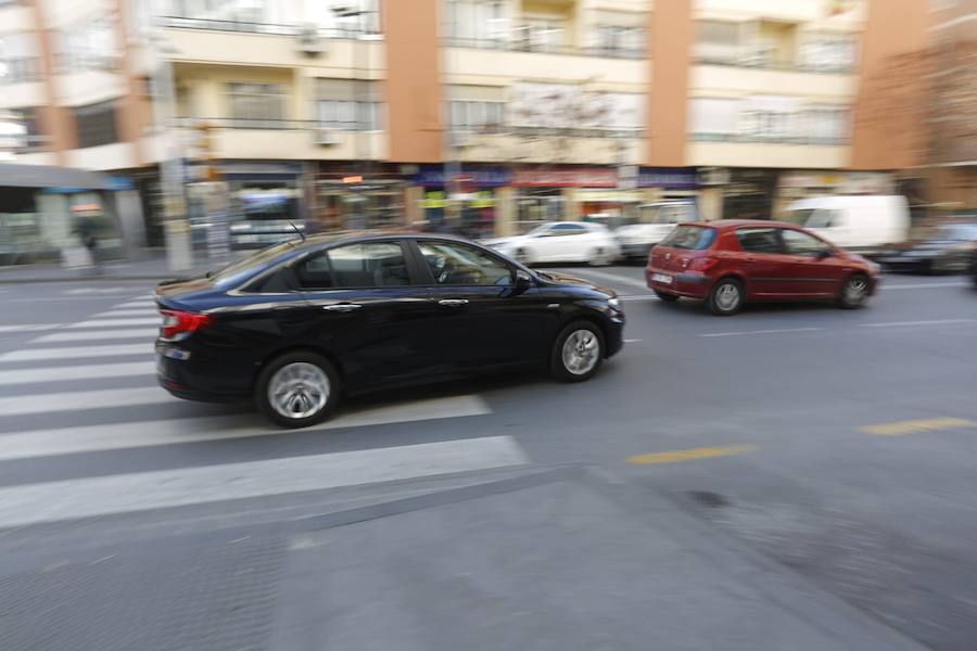
POLYGON ((523 465, 510 436, 423 443, 0 489, 0 527, 523 465))

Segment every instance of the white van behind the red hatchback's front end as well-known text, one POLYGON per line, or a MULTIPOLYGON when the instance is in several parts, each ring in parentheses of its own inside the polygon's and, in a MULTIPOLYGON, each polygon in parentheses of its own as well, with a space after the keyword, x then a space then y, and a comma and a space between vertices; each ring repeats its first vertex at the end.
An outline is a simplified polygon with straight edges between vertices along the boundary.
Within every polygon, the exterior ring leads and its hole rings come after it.
POLYGON ((898 195, 804 199, 788 206, 787 220, 860 253, 909 239, 909 203, 898 195))

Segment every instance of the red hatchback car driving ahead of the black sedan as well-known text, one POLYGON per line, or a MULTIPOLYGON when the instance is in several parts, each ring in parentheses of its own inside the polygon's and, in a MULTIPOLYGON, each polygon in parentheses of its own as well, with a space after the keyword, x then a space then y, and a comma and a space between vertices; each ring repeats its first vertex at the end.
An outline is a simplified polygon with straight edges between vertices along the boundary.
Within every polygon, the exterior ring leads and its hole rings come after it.
POLYGON ((829 299, 853 309, 875 293, 878 273, 878 265, 792 224, 733 219, 678 225, 645 269, 662 301, 706 301, 718 316, 751 301, 829 299))

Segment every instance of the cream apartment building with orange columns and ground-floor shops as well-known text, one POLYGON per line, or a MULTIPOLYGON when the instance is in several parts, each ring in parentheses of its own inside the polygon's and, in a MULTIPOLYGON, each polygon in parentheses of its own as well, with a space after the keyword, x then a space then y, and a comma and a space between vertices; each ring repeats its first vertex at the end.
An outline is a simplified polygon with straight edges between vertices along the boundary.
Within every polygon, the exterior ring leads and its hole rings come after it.
MULTIPOLYGON (((109 174, 238 245, 318 228, 707 218, 890 192, 860 117, 926 0, 0 0, 18 162, 109 174), (164 202, 167 188, 180 196, 164 202)), ((917 20, 919 18, 919 20, 917 20)), ((908 149, 908 148, 903 148, 908 149)), ((2 179, 0 179, 2 186, 2 179)))

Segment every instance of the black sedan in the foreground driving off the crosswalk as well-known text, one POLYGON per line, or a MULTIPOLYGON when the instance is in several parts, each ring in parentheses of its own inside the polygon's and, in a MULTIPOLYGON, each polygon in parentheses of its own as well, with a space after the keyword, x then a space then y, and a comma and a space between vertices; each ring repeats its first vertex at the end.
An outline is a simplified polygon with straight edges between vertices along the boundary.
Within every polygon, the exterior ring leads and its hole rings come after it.
POLYGON ((587 380, 622 346, 611 290, 428 234, 313 237, 160 283, 160 384, 321 421, 344 393, 543 366, 587 380))

